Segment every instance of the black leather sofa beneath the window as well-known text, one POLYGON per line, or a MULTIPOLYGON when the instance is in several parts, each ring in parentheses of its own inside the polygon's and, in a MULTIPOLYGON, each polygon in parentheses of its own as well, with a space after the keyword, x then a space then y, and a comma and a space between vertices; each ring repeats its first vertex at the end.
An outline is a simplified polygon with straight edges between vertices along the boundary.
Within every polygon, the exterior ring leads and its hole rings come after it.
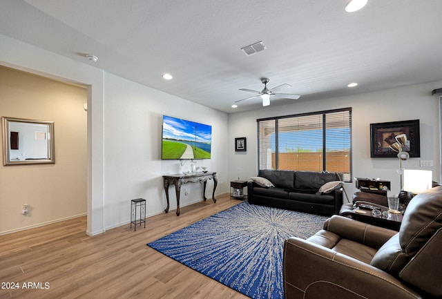
POLYGON ((247 183, 247 198, 250 204, 273 206, 280 209, 302 211, 319 215, 333 215, 343 204, 343 189, 330 193, 319 193, 327 182, 341 181, 342 174, 314 171, 260 170, 258 177, 273 183, 274 188, 247 183))

